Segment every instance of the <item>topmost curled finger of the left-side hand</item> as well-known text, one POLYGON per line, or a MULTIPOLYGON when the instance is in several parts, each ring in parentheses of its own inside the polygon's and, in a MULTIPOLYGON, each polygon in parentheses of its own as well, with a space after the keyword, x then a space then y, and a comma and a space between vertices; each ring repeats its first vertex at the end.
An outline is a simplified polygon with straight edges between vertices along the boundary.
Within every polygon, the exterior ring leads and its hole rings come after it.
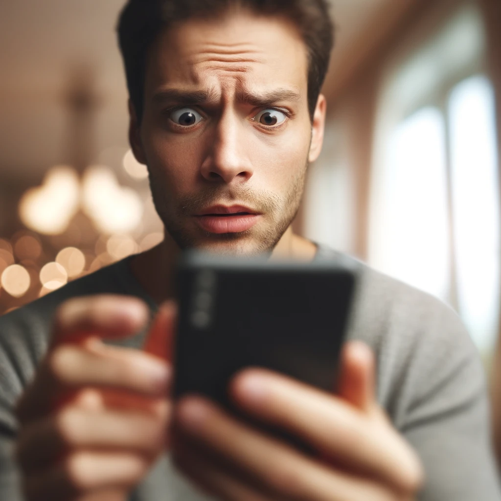
POLYGON ((66 301, 57 311, 52 346, 89 336, 121 339, 142 329, 148 308, 137 298, 99 295, 66 301))

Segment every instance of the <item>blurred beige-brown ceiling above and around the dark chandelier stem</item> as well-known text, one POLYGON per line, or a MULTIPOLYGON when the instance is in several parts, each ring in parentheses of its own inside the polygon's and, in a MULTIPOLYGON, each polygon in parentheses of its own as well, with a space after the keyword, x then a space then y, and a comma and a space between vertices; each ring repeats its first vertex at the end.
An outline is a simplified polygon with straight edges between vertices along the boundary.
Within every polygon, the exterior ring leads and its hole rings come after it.
MULTIPOLYGON (((38 182, 68 159, 64 90, 75 69, 95 76, 100 106, 96 154, 127 144, 125 81, 114 27, 124 0, 16 0, 0 3, 0 179, 38 182)), ((333 0, 339 67, 388 0, 333 0)), ((335 70, 333 70, 335 71, 335 70)), ((335 77, 334 77, 335 78, 335 77)))

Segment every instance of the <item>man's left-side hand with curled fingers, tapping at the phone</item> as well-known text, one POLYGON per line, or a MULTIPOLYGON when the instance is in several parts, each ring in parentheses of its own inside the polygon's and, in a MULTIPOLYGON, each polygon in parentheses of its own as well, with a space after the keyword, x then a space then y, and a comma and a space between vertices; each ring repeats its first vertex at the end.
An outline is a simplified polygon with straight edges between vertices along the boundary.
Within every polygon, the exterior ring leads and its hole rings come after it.
POLYGON ((17 406, 17 457, 28 501, 124 501, 165 447, 166 347, 173 306, 150 330, 151 353, 106 346, 144 328, 148 310, 118 296, 73 299, 17 406))

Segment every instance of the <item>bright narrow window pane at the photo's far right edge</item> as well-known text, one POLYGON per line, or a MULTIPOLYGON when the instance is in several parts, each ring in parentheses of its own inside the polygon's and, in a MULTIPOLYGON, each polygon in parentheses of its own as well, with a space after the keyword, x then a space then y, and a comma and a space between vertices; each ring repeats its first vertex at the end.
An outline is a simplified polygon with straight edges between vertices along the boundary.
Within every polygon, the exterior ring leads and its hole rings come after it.
POLYGON ((449 98, 451 198, 459 313, 482 352, 495 342, 499 309, 499 182, 494 93, 485 77, 449 98))

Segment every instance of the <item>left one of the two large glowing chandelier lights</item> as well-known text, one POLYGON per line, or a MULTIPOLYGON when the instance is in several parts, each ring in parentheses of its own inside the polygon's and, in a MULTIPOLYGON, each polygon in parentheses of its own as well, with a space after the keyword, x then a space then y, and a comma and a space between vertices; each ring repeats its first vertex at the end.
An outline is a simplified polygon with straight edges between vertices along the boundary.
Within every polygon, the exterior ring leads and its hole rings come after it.
POLYGON ((53 167, 42 186, 29 189, 21 198, 21 220, 39 233, 60 234, 78 210, 79 193, 76 171, 66 166, 53 167))

